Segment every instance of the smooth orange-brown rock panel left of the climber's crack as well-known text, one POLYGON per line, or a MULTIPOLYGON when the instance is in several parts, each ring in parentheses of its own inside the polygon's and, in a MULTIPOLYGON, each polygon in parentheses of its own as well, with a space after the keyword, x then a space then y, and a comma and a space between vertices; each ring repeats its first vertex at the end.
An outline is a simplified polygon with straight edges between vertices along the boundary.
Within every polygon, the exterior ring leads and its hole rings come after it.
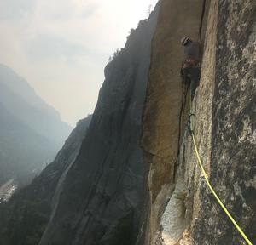
POLYGON ((154 244, 160 215, 174 187, 180 135, 184 128, 179 77, 183 59, 180 39, 183 36, 198 39, 204 3, 202 0, 161 2, 143 118, 143 147, 151 166, 148 174, 150 220, 147 244, 154 244))

